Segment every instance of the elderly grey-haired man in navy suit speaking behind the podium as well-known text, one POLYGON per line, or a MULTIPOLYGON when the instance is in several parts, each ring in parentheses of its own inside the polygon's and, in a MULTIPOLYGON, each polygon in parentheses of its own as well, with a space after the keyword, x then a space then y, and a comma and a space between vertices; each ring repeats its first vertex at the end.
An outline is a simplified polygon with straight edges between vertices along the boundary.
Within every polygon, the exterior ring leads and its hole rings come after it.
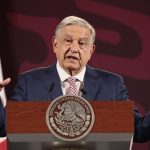
MULTIPOLYGON (((53 100, 73 92, 87 100, 128 100, 121 76, 87 65, 95 50, 95 30, 86 20, 69 16, 56 27, 52 39, 57 62, 19 76, 11 99, 18 101, 53 100), (70 82, 74 90, 70 90, 70 82)), ((1 82, 1 87, 9 79, 1 82)), ((150 139, 150 115, 141 116, 134 110, 134 141, 150 139)))

